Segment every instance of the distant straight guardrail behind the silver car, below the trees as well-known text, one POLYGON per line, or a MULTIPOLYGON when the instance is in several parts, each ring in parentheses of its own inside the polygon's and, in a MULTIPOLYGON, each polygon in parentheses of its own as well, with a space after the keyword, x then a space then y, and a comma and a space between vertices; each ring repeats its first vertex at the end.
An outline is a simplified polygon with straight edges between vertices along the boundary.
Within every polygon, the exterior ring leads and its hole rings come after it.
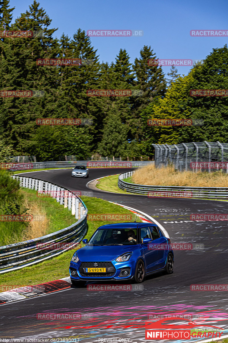
POLYGON ((42 169, 42 168, 72 168, 87 165, 88 168, 135 168, 154 164, 154 161, 56 161, 56 162, 31 162, 31 163, 4 163, 12 165, 11 170, 42 169), (17 168, 18 165, 18 168, 17 168))

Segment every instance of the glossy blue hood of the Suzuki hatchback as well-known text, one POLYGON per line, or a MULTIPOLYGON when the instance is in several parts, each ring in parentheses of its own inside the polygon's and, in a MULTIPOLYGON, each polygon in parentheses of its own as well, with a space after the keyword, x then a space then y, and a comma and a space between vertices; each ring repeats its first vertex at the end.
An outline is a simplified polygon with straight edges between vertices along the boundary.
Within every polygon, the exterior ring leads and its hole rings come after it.
POLYGON ((77 250, 81 262, 112 261, 121 254, 138 249, 138 245, 85 246, 77 250))

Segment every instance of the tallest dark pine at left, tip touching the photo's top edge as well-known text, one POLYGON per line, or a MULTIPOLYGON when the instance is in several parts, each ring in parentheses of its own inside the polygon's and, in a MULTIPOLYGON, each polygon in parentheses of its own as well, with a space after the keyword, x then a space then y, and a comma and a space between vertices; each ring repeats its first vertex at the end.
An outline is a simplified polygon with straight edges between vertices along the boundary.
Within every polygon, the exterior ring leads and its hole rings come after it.
POLYGON ((12 30, 43 31, 42 37, 4 38, 1 53, 1 90, 40 90, 41 98, 0 98, 0 133, 12 143, 15 154, 33 152, 32 135, 36 131, 36 118, 45 117, 45 111, 53 111, 56 76, 50 68, 39 67, 36 60, 53 54, 57 41, 51 36, 56 29, 48 29, 51 23, 46 12, 36 1, 22 13, 12 30))

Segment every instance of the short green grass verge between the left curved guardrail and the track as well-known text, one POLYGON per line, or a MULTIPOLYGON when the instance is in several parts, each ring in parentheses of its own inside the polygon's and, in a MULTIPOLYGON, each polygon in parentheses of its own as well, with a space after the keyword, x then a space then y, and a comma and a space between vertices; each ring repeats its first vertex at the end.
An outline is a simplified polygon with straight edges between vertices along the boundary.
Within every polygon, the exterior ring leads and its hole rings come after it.
MULTIPOLYGON (((91 197, 81 197, 81 199, 88 208, 89 214, 132 214, 132 212, 130 212, 129 210, 126 210, 119 205, 109 203, 106 200, 91 197)), ((113 221, 112 223, 115 223, 115 221, 113 221)), ((84 238, 89 239, 91 235, 94 233, 94 231, 97 229, 97 227, 104 224, 110 224, 110 222, 88 220, 88 231, 84 238)), ((73 252, 75 252, 75 250, 68 250, 67 252, 62 253, 57 257, 54 257, 41 263, 34 264, 30 267, 25 267, 16 271, 0 274, 0 284, 4 286, 36 285, 43 282, 48 282, 52 280, 62 279, 63 277, 67 277, 69 276, 69 263, 73 255, 73 252)))

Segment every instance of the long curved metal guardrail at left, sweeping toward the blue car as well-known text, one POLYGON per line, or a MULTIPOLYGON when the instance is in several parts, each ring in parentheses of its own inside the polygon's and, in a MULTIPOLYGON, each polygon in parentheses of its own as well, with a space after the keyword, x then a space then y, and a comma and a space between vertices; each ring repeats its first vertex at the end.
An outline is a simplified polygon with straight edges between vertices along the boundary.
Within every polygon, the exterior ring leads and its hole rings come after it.
POLYGON ((72 194, 70 190, 36 178, 16 175, 12 177, 20 180, 21 187, 35 189, 39 192, 51 191, 52 197, 71 210, 71 214, 75 215, 78 221, 49 235, 0 247, 0 274, 27 267, 67 251, 71 248, 70 246, 66 247, 65 245, 64 248, 59 246, 50 251, 48 248, 38 248, 38 244, 76 243, 84 237, 87 229, 88 210, 83 201, 77 195, 72 194))

